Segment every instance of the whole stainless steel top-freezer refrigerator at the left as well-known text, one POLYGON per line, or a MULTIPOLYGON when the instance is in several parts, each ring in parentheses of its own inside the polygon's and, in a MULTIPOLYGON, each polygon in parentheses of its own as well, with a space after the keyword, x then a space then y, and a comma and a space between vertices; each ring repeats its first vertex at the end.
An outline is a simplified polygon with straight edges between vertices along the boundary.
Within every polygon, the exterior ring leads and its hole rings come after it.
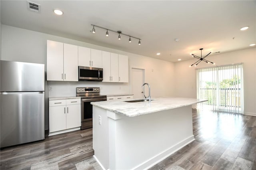
POLYGON ((44 139, 44 64, 0 61, 0 147, 44 139))

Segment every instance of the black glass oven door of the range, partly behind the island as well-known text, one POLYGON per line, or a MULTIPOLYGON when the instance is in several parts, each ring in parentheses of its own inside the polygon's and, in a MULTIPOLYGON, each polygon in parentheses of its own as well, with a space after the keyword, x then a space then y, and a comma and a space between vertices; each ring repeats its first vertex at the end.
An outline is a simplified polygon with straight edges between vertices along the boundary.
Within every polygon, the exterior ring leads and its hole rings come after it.
POLYGON ((81 99, 82 105, 82 122, 92 121, 92 105, 90 104, 93 101, 106 101, 106 97, 96 97, 96 98, 84 98, 81 99))

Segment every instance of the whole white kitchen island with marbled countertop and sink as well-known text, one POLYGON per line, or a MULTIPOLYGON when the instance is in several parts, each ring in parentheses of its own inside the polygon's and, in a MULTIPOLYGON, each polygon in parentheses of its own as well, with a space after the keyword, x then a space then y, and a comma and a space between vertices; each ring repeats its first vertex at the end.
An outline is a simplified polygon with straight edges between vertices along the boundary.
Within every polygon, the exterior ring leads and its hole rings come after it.
POLYGON ((94 158, 104 169, 150 168, 194 140, 191 105, 204 101, 92 102, 94 158))

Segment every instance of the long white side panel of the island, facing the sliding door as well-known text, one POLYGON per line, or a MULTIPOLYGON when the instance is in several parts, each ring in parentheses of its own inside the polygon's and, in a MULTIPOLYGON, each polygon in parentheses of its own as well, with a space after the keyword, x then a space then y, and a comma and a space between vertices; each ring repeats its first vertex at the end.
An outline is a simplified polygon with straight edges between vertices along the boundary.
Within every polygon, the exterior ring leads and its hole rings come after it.
MULTIPOLYGON (((115 114, 115 113, 113 113, 115 114)), ((194 140, 190 106, 109 118, 109 169, 146 169, 194 140)))

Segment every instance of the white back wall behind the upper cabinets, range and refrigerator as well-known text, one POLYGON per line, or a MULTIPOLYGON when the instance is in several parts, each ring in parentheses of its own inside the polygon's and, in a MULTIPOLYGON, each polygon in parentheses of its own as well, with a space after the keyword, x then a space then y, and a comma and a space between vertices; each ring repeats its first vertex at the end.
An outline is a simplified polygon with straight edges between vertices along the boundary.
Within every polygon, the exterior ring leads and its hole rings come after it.
MULTIPOLYGON (((142 55, 136 55, 117 49, 102 47, 90 43, 62 38, 50 34, 34 32, 12 26, 2 25, 1 28, 1 56, 2 60, 22 61, 30 63, 42 63, 46 65, 46 40, 70 43, 74 45, 90 47, 103 51, 128 55, 129 68, 145 69, 145 81, 152 86, 151 95, 174 95, 174 64, 168 61, 153 59, 142 55), (152 69, 154 71, 152 71, 152 69)), ((45 66, 46 69, 46 66, 45 66)), ((45 77, 46 78, 46 77, 45 77)), ((75 96, 76 87, 101 87, 102 94, 131 93, 130 83, 103 83, 103 82, 60 82, 46 81, 45 83, 45 109, 48 120, 48 97, 75 96), (52 91, 48 91, 48 85, 52 91)), ((141 87, 138 87, 141 88, 141 87)), ((46 125, 48 129, 48 123, 46 125)))

